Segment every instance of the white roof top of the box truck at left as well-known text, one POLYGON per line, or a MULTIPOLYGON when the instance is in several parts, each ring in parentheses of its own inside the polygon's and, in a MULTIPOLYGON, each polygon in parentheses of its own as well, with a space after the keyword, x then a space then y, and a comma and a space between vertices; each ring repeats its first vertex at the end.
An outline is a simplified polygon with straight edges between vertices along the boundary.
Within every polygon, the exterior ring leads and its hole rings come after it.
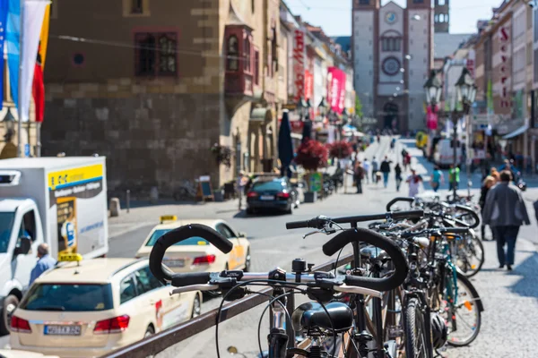
POLYGON ((101 162, 105 157, 41 157, 11 158, 0 160, 0 169, 52 168, 65 166, 82 166, 91 162, 101 162))

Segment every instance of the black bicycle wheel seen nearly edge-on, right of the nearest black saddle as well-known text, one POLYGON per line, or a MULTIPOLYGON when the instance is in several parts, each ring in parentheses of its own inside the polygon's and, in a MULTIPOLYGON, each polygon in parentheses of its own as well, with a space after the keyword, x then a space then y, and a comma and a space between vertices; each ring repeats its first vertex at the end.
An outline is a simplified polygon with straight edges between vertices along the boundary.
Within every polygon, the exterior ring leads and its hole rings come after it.
POLYGON ((424 315, 421 311, 421 303, 416 298, 411 298, 405 307, 404 314, 405 357, 426 358, 428 357, 428 344, 424 315))

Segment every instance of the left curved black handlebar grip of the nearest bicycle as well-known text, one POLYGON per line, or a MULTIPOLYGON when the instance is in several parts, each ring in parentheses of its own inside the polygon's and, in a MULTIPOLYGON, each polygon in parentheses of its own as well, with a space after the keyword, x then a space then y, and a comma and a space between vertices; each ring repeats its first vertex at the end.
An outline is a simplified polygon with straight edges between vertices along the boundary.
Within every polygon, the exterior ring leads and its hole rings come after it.
MULTIPOLYGON (((204 226, 200 224, 189 224, 186 226, 180 226, 177 229, 171 230, 166 234, 163 234, 157 242, 153 245, 152 252, 150 253, 150 270, 154 277, 157 277, 161 282, 167 283, 172 280, 174 276, 169 270, 164 269, 162 266, 162 259, 164 258, 164 253, 167 249, 184 240, 187 240, 191 237, 198 236, 207 240, 209 243, 212 243, 217 249, 224 253, 228 253, 233 248, 233 244, 230 243, 221 234, 217 233, 213 228, 209 226, 204 226)), ((185 275, 191 275, 195 277, 197 273, 189 273, 185 275)), ((186 279, 186 277, 183 277, 186 279)), ((176 279, 178 281, 178 279, 176 279)), ((209 280, 204 281, 206 284, 209 280)))

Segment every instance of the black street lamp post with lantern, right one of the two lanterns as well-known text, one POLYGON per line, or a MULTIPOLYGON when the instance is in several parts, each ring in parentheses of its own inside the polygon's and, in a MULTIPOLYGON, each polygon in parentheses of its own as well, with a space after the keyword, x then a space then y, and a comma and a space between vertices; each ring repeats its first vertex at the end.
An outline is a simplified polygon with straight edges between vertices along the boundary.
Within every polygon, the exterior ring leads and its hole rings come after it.
MULTIPOLYGON (((453 175, 452 175, 452 190, 454 198, 456 198, 456 166, 457 166, 457 120, 461 118, 463 115, 467 116, 469 115, 469 111, 471 110, 471 106, 473 106, 474 98, 476 97, 476 86, 474 85, 473 77, 471 76, 471 72, 467 69, 467 67, 464 67, 462 70, 462 74, 460 75, 459 79, 456 81, 456 98, 453 98, 450 105, 451 110, 451 117, 452 117, 452 124, 454 126, 453 131, 453 141, 452 141, 452 148, 454 149, 454 168, 453 168, 453 175), (457 101, 461 102, 462 109, 458 109, 456 104, 457 101)), ((466 122, 467 125, 468 121, 466 122)), ((467 192, 471 191, 470 185, 469 185, 469 167, 467 165, 467 192)))

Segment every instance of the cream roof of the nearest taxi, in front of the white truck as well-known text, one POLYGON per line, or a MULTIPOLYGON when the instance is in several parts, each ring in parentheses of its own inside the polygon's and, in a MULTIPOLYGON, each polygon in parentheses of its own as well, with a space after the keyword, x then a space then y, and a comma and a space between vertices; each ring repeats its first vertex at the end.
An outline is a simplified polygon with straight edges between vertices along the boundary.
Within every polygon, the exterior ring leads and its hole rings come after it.
POLYGON ((68 262, 39 277, 39 283, 84 283, 107 284, 117 271, 136 263, 136 259, 91 259, 68 262))

